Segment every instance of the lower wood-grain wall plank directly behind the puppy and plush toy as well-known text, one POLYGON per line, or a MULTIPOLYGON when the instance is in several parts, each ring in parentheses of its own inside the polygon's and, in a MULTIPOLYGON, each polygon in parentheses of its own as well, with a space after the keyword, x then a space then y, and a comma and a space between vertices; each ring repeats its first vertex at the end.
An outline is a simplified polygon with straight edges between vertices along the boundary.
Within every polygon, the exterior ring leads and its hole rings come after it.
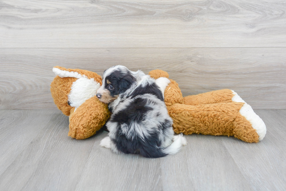
POLYGON ((236 91, 254 109, 286 108, 286 48, 4 48, 0 52, 0 108, 56 109, 53 66, 102 74, 121 64, 168 71, 184 96, 236 91))

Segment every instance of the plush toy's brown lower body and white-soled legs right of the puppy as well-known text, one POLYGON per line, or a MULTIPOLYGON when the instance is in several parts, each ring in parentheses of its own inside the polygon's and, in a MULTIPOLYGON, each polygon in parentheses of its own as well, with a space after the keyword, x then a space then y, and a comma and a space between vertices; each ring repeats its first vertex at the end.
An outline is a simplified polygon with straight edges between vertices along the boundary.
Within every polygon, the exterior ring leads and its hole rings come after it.
MULTIPOLYGON (((150 71, 149 75, 155 79, 169 78, 162 70, 150 71)), ((175 133, 227 135, 249 143, 264 138, 264 122, 233 90, 183 97, 178 84, 170 81, 164 92, 164 101, 173 119, 175 133)))

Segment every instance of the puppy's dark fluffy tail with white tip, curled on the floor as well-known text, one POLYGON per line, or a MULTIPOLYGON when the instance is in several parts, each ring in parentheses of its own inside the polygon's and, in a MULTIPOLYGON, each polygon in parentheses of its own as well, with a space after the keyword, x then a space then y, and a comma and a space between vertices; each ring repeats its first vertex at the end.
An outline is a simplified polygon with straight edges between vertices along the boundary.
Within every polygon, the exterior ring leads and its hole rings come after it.
POLYGON ((182 146, 185 146, 187 144, 186 138, 183 137, 182 134, 175 135, 173 137, 173 143, 166 147, 147 147, 148 149, 141 149, 141 155, 148 158, 158 158, 158 157, 164 157, 167 155, 174 155, 179 150, 181 150, 182 146))

